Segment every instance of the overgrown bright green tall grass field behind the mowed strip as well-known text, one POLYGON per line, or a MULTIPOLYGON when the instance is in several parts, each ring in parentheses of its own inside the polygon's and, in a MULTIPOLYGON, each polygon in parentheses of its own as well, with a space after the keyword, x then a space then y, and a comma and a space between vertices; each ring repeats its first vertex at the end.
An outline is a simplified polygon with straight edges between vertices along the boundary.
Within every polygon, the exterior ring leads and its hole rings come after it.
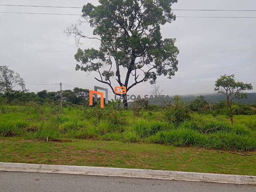
POLYGON ((232 151, 256 150, 256 116, 192 114, 180 124, 164 120, 162 111, 108 108, 55 108, 54 106, 0 106, 0 136, 30 139, 78 138, 156 143, 232 151))

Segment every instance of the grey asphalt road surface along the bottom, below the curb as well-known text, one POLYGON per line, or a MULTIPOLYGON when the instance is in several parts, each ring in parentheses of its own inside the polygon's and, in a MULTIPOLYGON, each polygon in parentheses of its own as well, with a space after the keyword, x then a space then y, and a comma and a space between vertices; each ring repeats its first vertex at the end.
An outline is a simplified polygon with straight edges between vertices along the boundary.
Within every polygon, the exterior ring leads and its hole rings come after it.
POLYGON ((256 192, 256 186, 0 171, 0 192, 256 192))

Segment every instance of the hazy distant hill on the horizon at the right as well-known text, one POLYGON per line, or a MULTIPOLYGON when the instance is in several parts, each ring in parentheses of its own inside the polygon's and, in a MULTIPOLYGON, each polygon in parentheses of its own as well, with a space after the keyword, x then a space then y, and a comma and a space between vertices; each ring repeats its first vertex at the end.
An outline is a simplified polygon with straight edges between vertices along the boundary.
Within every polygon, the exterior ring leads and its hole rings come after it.
MULTIPOLYGON (((222 94, 201 94, 202 96, 204 96, 205 100, 207 102, 211 101, 212 103, 217 103, 220 102, 222 100, 226 100, 225 96, 223 96, 222 94)), ((198 96, 200 95, 181 95, 180 96, 180 100, 185 101, 186 104, 190 104, 190 102, 192 102, 193 100, 195 100, 198 96)), ((170 96, 169 98, 165 98, 164 100, 166 101, 166 103, 169 103, 170 100, 173 100, 174 96, 170 96)), ((235 99, 234 100, 237 103, 243 103, 243 104, 255 104, 256 103, 256 93, 248 93, 247 94, 247 98, 244 99, 235 99)), ((149 104, 150 105, 158 105, 158 106, 162 106, 162 102, 161 100, 158 99, 149 99, 149 104)))

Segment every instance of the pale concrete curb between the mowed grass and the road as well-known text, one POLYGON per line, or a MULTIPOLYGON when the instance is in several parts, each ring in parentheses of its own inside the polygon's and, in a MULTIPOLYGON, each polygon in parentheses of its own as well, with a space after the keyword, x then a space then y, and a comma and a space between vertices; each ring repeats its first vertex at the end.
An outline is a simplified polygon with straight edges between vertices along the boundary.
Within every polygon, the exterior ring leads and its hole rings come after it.
POLYGON ((115 176, 115 177, 129 177, 129 178, 148 178, 148 179, 162 179, 162 180, 256 185, 256 176, 193 173, 193 172, 180 172, 180 171, 4 163, 4 162, 0 162, 0 170, 16 171, 16 172, 80 174, 80 175, 94 175, 94 176, 115 176))

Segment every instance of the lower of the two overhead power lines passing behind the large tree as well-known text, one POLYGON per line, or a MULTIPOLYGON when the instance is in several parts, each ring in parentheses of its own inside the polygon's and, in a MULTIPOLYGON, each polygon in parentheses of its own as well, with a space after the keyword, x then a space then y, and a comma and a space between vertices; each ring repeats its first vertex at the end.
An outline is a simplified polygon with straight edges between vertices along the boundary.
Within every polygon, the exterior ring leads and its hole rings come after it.
MULTIPOLYGON (((0 13, 82 16, 81 14, 62 14, 62 13, 31 13, 31 12, 0 12, 0 13)), ((230 16, 176 16, 176 18, 256 18, 256 17, 239 17, 239 16, 234 16, 234 17, 230 17, 230 16)))

